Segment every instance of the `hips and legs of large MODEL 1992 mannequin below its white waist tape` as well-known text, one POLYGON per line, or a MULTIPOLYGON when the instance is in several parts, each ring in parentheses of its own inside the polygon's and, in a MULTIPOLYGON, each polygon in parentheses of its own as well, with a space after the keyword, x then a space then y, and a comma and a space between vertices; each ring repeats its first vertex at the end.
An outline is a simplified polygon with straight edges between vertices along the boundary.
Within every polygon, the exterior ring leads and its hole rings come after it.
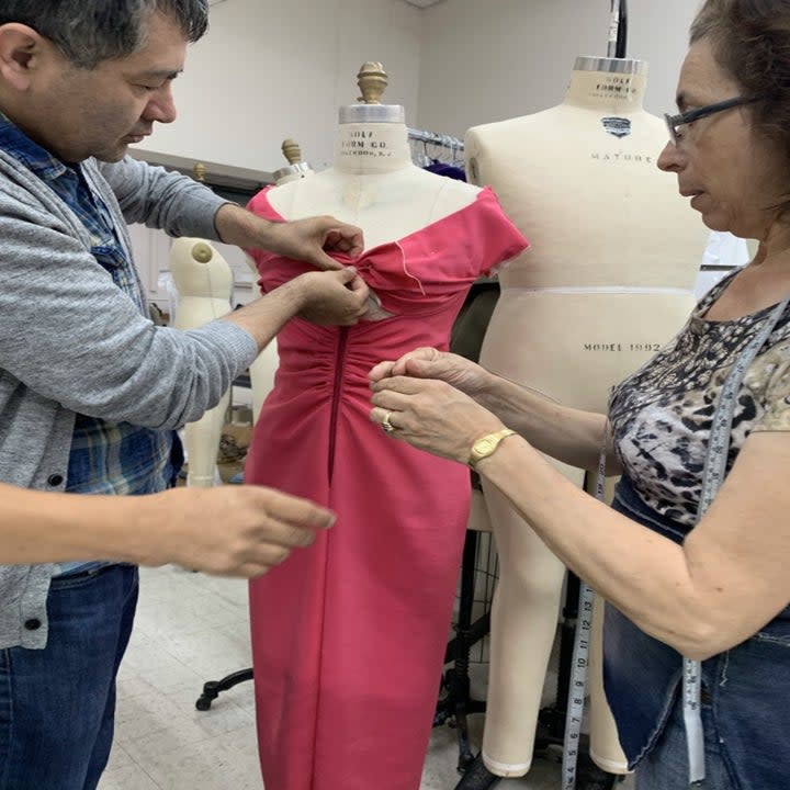
MULTIPOLYGON (((662 293, 562 294, 505 289, 481 361, 561 403, 605 411, 608 385, 657 350, 672 335, 666 327, 679 328, 691 303, 690 295, 662 293), (563 360, 562 366, 557 360, 563 360)), ((584 485, 582 471, 556 466, 568 479, 584 485)), ((500 571, 492 612, 483 760, 492 774, 521 776, 531 764, 564 568, 496 492, 484 490, 500 571)), ((597 662, 588 681, 588 689, 597 689, 591 729, 601 722, 595 733, 596 755, 603 770, 610 766, 622 770, 625 761, 601 687, 597 662)))

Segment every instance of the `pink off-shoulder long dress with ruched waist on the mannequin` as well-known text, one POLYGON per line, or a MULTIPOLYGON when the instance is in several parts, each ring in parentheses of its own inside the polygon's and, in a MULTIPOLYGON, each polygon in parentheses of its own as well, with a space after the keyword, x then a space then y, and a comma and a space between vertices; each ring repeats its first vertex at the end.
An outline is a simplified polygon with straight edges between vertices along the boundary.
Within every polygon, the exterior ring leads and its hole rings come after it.
MULTIPOLYGON (((249 207, 282 219, 268 190, 249 207)), ((469 512, 469 470, 388 438, 368 373, 447 349, 472 283, 526 239, 490 190, 354 261, 391 318, 292 319, 245 479, 338 514, 250 585, 258 743, 267 790, 416 790, 436 709, 469 512)), ((255 253, 263 291, 311 267, 255 253)), ((338 257, 339 260, 343 260, 338 257)))

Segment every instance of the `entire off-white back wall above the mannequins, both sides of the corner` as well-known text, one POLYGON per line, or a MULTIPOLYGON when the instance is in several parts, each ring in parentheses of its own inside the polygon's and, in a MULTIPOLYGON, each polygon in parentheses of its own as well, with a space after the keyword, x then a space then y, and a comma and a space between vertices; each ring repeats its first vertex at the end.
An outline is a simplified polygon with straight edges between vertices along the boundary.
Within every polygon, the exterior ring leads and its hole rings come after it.
MULTIPOLYGON (((674 108, 698 0, 629 0, 628 56, 650 64, 646 108, 674 108)), ((411 126, 462 137, 562 101, 577 55, 605 56, 610 0, 225 0, 176 82, 179 119, 140 148, 256 171, 285 165, 294 137, 316 169, 357 71, 381 60, 384 101, 411 126)))

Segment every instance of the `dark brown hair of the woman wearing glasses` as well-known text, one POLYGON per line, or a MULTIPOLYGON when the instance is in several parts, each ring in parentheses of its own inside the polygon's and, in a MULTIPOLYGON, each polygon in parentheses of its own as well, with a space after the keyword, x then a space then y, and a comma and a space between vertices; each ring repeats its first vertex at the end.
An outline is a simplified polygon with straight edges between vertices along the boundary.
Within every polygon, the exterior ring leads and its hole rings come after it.
MULTIPOLYGON (((790 0, 706 0, 691 23, 690 43, 710 42, 721 68, 759 101, 754 128, 777 146, 790 173, 790 0)), ((788 193, 781 206, 790 214, 788 193)))

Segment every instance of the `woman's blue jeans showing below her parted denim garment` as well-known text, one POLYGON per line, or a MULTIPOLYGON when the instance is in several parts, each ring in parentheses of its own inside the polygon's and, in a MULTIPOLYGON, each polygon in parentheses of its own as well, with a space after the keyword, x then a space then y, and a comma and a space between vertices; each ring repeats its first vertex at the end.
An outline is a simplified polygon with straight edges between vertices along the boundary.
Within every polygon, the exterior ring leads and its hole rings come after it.
MULTIPOLYGON (((741 786, 732 775, 730 758, 721 743, 709 703, 702 704, 702 726, 706 742, 706 778, 699 786, 700 790, 738 790, 741 786)), ((759 748, 759 744, 755 744, 755 748, 759 748)), ((655 747, 636 768, 636 790, 687 790, 688 776, 686 729, 682 704, 678 699, 655 747)))

